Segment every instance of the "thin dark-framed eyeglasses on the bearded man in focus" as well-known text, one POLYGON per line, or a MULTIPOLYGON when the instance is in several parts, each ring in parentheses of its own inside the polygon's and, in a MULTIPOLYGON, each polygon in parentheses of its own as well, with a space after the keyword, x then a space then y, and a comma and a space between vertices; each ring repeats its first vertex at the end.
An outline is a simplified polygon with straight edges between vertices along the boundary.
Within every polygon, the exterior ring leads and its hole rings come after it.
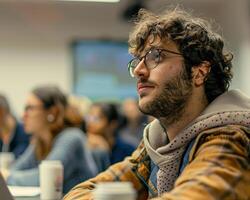
POLYGON ((143 60, 145 66, 148 69, 153 69, 157 67, 157 65, 163 60, 162 52, 166 52, 164 57, 167 57, 167 53, 175 54, 181 56, 181 53, 177 53, 174 51, 170 51, 167 49, 151 49, 144 56, 138 58, 133 58, 128 63, 128 71, 131 77, 135 77, 134 70, 138 66, 138 64, 143 60))

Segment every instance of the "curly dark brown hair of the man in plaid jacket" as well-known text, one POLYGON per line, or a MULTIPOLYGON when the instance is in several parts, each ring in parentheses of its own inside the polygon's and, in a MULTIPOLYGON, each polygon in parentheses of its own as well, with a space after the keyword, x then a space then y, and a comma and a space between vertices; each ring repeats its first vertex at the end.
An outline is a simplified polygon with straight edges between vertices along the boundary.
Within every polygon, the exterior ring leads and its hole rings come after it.
POLYGON ((139 56, 151 35, 175 42, 184 57, 190 80, 192 67, 205 61, 210 63, 211 69, 205 81, 208 102, 228 90, 232 79, 233 55, 225 52, 222 37, 212 31, 207 21, 191 16, 179 7, 161 15, 141 9, 135 28, 129 35, 129 52, 139 56))

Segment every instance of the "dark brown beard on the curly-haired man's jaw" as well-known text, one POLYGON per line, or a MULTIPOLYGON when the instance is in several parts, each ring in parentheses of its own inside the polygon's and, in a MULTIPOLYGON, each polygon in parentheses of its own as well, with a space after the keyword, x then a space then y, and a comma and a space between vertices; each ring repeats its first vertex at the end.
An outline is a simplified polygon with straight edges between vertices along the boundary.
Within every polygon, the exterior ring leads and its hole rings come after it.
POLYGON ((166 81, 159 95, 145 105, 139 105, 141 112, 157 119, 164 118, 167 124, 176 122, 183 115, 192 94, 192 81, 185 68, 175 78, 166 81))

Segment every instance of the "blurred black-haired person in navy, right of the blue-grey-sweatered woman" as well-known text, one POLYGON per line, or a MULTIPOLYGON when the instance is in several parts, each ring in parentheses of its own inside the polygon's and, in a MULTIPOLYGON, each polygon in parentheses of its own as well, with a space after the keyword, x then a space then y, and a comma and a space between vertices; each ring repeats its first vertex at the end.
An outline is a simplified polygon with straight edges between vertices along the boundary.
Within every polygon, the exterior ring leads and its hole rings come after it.
POLYGON ((109 152, 110 163, 123 160, 134 147, 119 136, 120 115, 112 103, 94 103, 86 118, 88 144, 91 149, 109 152))

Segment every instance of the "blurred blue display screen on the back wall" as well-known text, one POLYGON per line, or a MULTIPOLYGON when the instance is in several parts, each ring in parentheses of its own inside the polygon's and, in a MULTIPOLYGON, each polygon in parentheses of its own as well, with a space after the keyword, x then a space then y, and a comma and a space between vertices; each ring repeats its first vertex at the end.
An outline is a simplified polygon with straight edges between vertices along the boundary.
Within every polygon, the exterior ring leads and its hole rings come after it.
POLYGON ((126 42, 81 40, 73 44, 74 93, 92 100, 122 100, 136 96, 128 74, 132 58, 126 42))

